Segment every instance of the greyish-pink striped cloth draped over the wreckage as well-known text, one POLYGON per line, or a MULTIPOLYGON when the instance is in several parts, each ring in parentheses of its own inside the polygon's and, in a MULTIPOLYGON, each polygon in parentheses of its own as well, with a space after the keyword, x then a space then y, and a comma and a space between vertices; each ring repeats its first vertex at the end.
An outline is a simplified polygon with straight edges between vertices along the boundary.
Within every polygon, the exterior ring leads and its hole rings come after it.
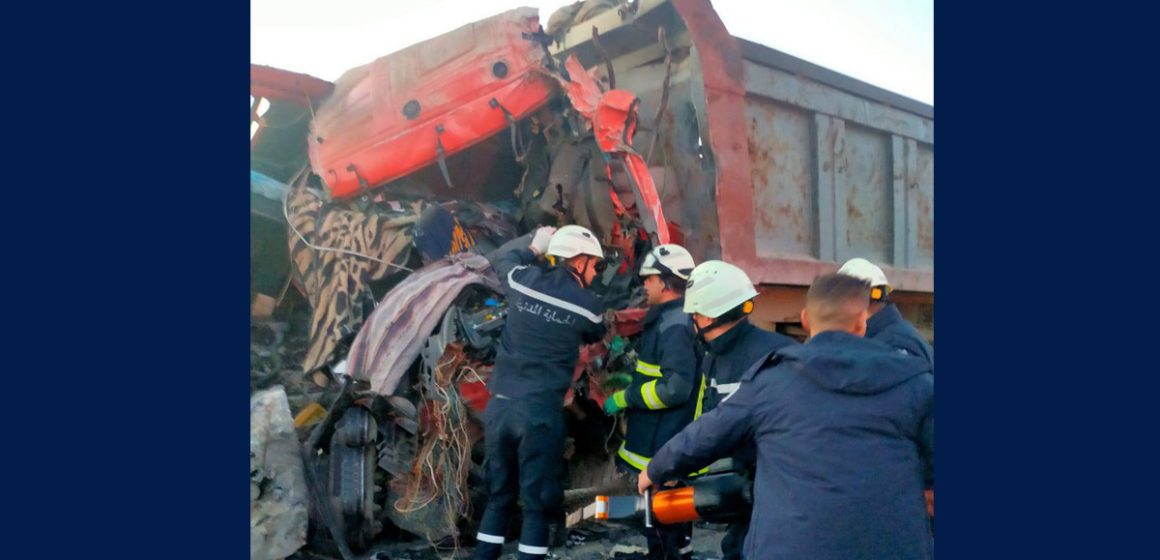
POLYGON ((414 271, 387 292, 350 347, 350 374, 371 390, 394 393, 407 368, 419 357, 432 330, 469 285, 499 290, 487 259, 452 255, 414 271))

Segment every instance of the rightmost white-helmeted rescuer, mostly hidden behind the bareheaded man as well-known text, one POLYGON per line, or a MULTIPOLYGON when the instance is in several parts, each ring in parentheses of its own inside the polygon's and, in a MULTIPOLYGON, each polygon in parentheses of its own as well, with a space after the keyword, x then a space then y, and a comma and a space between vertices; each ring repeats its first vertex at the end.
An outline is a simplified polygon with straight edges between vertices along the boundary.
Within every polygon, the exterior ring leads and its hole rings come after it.
POLYGON ((850 259, 838 269, 870 284, 870 320, 867 321, 867 339, 873 339, 912 356, 919 356, 935 366, 935 351, 909 321, 902 319, 898 306, 890 300, 893 290, 886 274, 865 259, 850 259))

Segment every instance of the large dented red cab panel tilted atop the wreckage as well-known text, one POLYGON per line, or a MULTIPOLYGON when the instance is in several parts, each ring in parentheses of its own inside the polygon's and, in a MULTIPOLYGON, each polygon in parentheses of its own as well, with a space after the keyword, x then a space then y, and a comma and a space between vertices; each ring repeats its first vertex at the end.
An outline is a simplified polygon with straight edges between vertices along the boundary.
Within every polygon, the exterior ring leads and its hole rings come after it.
MULTIPOLYGON (((307 141, 335 198, 357 196, 462 152, 548 102, 539 17, 519 8, 348 71, 307 141)), ((454 177, 450 177, 454 182, 454 177)))

